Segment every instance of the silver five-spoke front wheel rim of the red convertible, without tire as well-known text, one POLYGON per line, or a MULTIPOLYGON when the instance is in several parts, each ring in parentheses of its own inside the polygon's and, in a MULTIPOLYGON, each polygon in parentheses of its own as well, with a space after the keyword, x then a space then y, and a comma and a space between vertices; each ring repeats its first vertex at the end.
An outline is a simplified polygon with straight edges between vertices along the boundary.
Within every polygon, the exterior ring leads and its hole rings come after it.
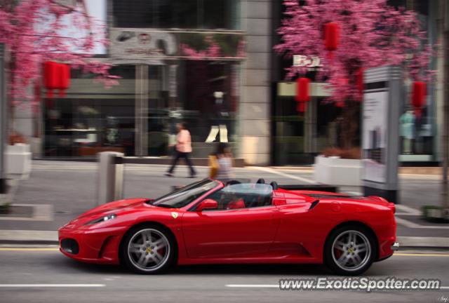
POLYGON ((170 257, 170 242, 157 229, 140 229, 128 242, 128 257, 142 271, 155 271, 170 257))

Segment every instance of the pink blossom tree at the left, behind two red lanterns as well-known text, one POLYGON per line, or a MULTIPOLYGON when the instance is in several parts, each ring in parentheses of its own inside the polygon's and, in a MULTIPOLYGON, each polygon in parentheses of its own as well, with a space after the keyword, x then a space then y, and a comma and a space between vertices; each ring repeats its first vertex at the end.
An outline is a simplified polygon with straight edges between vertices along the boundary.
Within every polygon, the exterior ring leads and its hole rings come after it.
POLYGON ((107 46, 105 27, 88 15, 82 0, 0 0, 0 43, 8 60, 8 98, 11 106, 38 102, 30 85, 42 82, 42 64, 64 62, 95 74, 95 80, 113 86, 111 65, 94 60, 95 47, 107 46))

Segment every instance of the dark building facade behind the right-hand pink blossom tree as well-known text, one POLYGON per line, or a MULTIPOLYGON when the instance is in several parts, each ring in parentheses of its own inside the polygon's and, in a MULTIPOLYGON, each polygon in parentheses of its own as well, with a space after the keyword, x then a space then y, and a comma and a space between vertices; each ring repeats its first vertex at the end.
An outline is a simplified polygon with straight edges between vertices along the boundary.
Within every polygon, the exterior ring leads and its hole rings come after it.
MULTIPOLYGON (((274 3, 273 11, 276 17, 273 20, 273 30, 281 25, 283 13, 282 1, 274 3)), ((429 43, 436 44, 441 41, 441 1, 438 0, 390 0, 391 6, 403 6, 418 14, 422 26, 427 30, 429 43)), ((279 43, 275 37, 274 45, 279 43)), ((321 66, 320 58, 308 58, 297 54, 293 59, 285 60, 273 55, 272 73, 272 163, 274 165, 297 165, 314 163, 314 156, 326 147, 338 147, 340 128, 340 115, 342 110, 332 104, 326 103, 328 91, 326 83, 311 82, 311 100, 307 111, 298 114, 295 105, 296 86, 293 81, 286 81, 285 67, 292 65, 307 65, 310 72, 307 75, 314 79, 314 72, 321 66)), ((427 83, 427 102, 422 116, 417 119, 410 106, 411 84, 410 79, 404 79, 403 100, 398 100, 401 106, 400 123, 400 154, 402 165, 434 165, 441 160, 440 137, 443 126, 443 54, 438 51, 429 64, 430 69, 436 71, 433 83, 427 83)))

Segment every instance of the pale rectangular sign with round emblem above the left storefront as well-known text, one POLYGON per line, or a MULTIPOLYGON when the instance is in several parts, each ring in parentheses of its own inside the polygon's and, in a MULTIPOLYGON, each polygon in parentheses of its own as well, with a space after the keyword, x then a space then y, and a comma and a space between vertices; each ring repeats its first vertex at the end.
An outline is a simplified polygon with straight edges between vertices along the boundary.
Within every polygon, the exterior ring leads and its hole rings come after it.
POLYGON ((145 58, 176 55, 175 34, 140 29, 111 29, 110 53, 112 57, 145 58))

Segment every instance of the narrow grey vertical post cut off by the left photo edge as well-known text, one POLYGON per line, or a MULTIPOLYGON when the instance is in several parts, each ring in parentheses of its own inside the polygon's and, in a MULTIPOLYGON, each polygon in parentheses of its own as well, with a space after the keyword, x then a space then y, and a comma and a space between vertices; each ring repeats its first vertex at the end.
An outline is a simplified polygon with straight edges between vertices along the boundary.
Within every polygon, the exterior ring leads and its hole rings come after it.
POLYGON ((6 101, 6 72, 5 72, 5 45, 0 43, 0 194, 6 193, 6 169, 5 169, 5 149, 6 149, 6 127, 8 109, 6 101))

